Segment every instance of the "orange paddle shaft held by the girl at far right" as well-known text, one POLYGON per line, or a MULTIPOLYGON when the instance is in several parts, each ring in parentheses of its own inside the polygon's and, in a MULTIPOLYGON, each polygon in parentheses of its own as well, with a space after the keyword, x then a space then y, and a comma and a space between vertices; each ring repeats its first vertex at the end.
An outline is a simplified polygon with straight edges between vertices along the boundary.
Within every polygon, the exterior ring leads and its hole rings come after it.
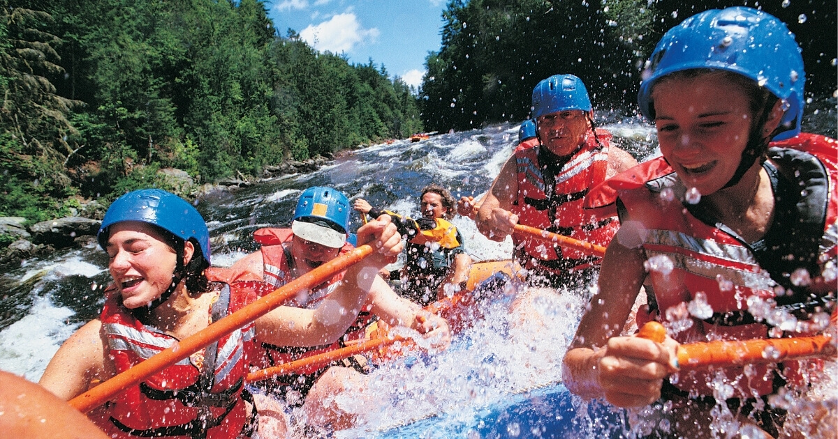
MULTIPOLYGON (((665 334, 666 329, 662 324, 649 322, 640 329, 638 336, 660 343, 665 334)), ((711 365, 748 365, 825 358, 835 356, 835 353, 835 344, 830 335, 787 339, 716 340, 680 345, 678 365, 680 370, 694 370, 711 365)))

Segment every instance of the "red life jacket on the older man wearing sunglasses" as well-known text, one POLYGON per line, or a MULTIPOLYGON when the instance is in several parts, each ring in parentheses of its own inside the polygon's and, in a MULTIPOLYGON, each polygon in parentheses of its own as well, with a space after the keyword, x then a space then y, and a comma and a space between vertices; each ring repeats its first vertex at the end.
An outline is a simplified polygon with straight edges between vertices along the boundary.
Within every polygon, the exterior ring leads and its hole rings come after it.
MULTIPOLYGON (((617 210, 613 206, 582 209, 587 191, 605 181, 608 169, 612 135, 606 130, 597 130, 597 137, 602 145, 589 131, 585 145, 555 176, 542 172, 541 148, 515 151, 518 199, 513 203, 512 212, 518 215, 520 224, 602 246, 611 242, 619 227, 617 210)), ((602 260, 519 233, 513 233, 512 241, 515 258, 527 269, 565 274, 592 267, 602 260)))

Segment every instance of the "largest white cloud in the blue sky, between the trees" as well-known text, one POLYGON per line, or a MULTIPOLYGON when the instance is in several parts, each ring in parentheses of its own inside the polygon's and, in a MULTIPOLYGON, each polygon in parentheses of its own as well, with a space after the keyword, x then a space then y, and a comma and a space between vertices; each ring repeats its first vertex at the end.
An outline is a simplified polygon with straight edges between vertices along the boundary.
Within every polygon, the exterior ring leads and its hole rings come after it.
POLYGON ((348 52, 355 44, 375 41, 379 34, 377 28, 362 28, 354 13, 341 13, 317 26, 304 28, 300 38, 320 51, 339 54, 348 52))

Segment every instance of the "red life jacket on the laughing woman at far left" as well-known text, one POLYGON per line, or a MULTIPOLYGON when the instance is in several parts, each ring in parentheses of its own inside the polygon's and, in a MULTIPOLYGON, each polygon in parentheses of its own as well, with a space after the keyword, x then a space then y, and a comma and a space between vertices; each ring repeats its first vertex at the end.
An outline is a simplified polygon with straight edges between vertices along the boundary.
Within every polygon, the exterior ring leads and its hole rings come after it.
MULTIPOLYGON (((217 321, 256 299, 258 283, 224 284, 211 315, 217 321)), ((209 316, 208 316, 209 318, 209 316)), ((107 354, 116 372, 128 370, 178 342, 135 319, 114 294, 101 313, 107 354)), ((209 439, 239 437, 248 423, 243 399, 253 324, 123 391, 91 419, 108 436, 209 439)))

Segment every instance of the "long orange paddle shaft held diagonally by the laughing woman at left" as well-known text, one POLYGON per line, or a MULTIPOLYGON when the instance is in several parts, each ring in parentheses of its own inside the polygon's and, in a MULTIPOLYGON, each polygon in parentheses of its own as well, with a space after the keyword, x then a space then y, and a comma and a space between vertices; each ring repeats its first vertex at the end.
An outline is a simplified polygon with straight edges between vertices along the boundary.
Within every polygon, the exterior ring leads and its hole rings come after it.
POLYGON ((304 288, 313 288, 325 282, 328 278, 334 276, 334 274, 342 272, 354 263, 358 263, 361 259, 370 256, 372 251, 369 245, 362 245, 349 253, 334 258, 328 263, 323 263, 320 267, 277 288, 273 293, 263 296, 261 299, 256 300, 256 302, 239 309, 214 324, 210 324, 206 328, 190 335, 148 360, 144 360, 131 369, 114 376, 80 396, 76 396, 69 401, 70 406, 75 407, 75 409, 83 413, 91 411, 93 408, 108 401, 111 396, 126 390, 132 385, 137 385, 137 383, 146 379, 148 376, 154 375, 170 365, 183 360, 215 340, 225 336, 225 334, 230 334, 235 329, 241 328, 261 316, 268 314, 272 309, 285 303, 287 299, 291 299, 298 291, 304 288))

